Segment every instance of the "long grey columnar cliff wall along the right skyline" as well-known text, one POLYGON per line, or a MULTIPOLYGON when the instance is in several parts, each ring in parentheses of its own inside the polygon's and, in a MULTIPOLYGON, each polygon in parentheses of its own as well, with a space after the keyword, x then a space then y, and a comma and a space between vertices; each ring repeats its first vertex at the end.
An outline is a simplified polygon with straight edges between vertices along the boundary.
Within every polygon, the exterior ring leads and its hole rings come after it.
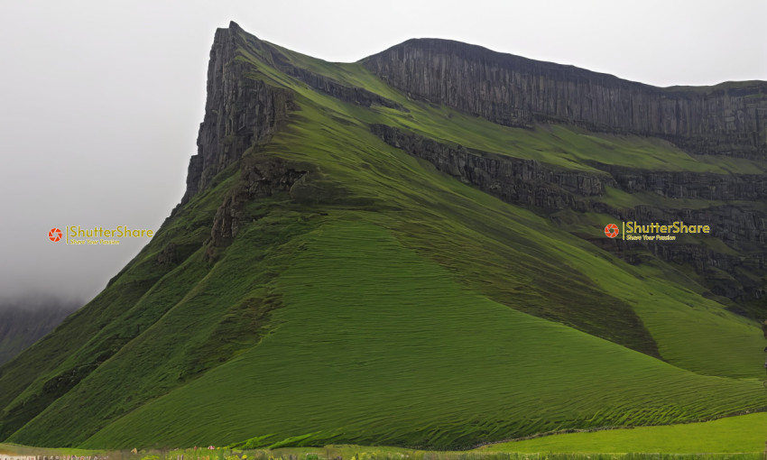
POLYGON ((767 156, 767 84, 660 88, 446 40, 410 40, 361 61, 409 97, 498 124, 578 124, 668 139, 690 152, 767 156))

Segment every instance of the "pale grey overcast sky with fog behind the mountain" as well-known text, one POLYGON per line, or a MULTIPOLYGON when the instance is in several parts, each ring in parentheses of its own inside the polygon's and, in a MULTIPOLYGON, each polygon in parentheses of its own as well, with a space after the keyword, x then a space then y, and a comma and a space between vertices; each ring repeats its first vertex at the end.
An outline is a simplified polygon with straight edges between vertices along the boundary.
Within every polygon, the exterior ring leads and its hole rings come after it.
POLYGON ((325 60, 439 37, 670 86, 767 80, 765 17, 765 0, 3 0, 0 299, 86 301, 146 244, 47 233, 159 228, 183 194, 208 52, 230 20, 325 60))

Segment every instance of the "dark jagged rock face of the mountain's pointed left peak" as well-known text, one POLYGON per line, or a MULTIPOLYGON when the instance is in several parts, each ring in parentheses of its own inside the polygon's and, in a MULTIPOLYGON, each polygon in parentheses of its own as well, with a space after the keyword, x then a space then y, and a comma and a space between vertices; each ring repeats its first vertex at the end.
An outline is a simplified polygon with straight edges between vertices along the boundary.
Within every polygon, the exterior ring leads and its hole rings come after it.
POLYGON ((181 204, 252 146, 267 143, 296 108, 291 90, 247 78, 253 64, 236 60, 239 27, 218 29, 208 62, 208 99, 199 125, 198 153, 189 161, 181 204))

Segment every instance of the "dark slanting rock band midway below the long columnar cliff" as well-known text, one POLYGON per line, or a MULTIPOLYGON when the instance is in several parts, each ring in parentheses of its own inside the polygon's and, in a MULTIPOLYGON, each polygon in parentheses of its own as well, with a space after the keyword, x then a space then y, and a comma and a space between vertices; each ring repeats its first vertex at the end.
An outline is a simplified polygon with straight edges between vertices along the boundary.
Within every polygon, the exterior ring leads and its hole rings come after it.
POLYGON ((559 170, 540 161, 438 143, 385 124, 373 124, 370 129, 385 143, 510 203, 547 210, 584 208, 585 202, 578 197, 603 195, 605 186, 615 186, 615 180, 606 174, 559 170))

